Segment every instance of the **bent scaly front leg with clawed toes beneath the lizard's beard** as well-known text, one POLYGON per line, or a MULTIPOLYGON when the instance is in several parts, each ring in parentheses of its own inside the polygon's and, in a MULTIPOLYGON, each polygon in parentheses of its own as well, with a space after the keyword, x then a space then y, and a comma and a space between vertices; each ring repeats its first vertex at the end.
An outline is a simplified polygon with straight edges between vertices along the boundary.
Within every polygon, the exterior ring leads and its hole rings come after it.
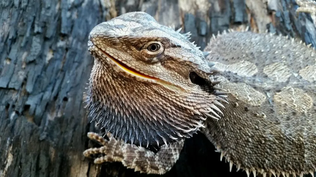
POLYGON ((171 145, 163 145, 157 153, 143 147, 131 146, 118 141, 112 134, 107 134, 109 141, 99 134, 89 132, 88 138, 99 142, 102 147, 90 148, 83 152, 85 157, 93 154, 106 154, 94 159, 94 163, 121 162, 127 168, 146 174, 164 174, 169 171, 179 158, 184 140, 171 145))

